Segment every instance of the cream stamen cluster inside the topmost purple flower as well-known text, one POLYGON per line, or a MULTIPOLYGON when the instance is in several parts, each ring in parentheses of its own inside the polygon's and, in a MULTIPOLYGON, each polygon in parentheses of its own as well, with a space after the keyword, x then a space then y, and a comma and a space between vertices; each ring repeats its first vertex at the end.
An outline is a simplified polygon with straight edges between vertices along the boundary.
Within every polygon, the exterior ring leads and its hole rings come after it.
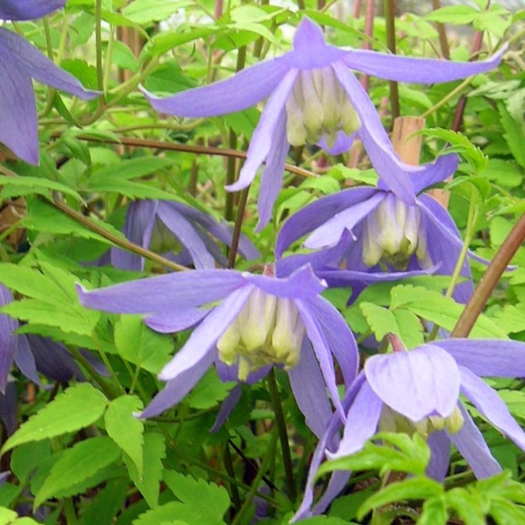
POLYGON ((339 131, 351 135, 361 127, 332 66, 299 73, 286 101, 286 113, 286 133, 292 146, 316 144, 324 137, 332 147, 339 131))

